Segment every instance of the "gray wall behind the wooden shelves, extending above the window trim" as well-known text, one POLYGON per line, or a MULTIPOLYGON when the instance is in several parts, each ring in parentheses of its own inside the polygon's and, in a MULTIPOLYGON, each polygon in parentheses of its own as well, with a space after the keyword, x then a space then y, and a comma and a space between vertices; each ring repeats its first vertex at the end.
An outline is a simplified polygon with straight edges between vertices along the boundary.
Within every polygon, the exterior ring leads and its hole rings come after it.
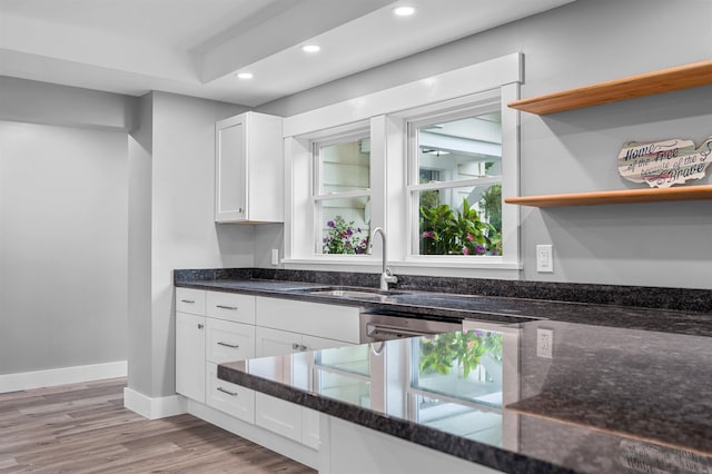
MULTIPOLYGON (((708 0, 580 0, 291 97, 261 111, 290 116, 403 82, 522 51, 522 97, 712 57, 708 0)), ((616 170, 631 140, 712 135, 712 87, 548 117, 522 113, 521 194, 640 188, 616 170)), ((708 184, 709 178, 703 182, 708 184)), ((527 280, 712 288, 705 201, 522 208, 527 280), (537 244, 553 244, 554 273, 537 274, 537 244)), ((260 249, 256 249, 260 250, 260 249)), ((256 261, 268 261, 256 255, 256 261)))

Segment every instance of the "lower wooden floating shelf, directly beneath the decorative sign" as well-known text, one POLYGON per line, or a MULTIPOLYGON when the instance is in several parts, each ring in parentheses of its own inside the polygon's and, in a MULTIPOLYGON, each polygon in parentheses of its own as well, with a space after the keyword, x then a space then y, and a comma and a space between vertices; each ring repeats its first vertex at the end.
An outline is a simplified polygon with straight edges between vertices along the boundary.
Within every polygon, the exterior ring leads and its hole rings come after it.
POLYGON ((712 199, 712 185, 679 188, 625 189, 619 191, 573 192, 565 195, 522 196, 504 199, 507 204, 533 207, 597 206, 603 204, 659 203, 712 199))

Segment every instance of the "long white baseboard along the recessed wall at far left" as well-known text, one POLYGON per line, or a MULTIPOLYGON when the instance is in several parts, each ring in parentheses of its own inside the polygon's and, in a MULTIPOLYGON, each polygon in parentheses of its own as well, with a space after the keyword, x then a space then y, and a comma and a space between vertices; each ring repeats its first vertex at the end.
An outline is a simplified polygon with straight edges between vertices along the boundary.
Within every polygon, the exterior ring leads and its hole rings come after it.
POLYGON ((126 361, 0 375, 0 394, 126 377, 126 361))

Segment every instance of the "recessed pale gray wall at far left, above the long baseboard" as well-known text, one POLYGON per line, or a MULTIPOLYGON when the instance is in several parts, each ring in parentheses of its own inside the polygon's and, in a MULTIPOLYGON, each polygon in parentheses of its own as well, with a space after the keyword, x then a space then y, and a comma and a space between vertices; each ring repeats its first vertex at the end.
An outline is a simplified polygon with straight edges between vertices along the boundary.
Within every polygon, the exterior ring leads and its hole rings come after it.
POLYGON ((126 157, 122 131, 0 121, 0 375, 126 359, 126 157))

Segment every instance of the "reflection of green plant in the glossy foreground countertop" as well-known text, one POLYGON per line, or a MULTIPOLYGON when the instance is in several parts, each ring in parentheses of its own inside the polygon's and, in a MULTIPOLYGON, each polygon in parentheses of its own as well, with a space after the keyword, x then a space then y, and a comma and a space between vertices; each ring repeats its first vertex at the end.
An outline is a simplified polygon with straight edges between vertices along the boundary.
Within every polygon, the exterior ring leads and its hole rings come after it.
POLYGON ((444 333, 432 338, 421 339, 421 374, 449 374, 455 366, 463 368, 463 376, 477 368, 479 358, 490 354, 495 361, 502 361, 502 334, 444 333))

